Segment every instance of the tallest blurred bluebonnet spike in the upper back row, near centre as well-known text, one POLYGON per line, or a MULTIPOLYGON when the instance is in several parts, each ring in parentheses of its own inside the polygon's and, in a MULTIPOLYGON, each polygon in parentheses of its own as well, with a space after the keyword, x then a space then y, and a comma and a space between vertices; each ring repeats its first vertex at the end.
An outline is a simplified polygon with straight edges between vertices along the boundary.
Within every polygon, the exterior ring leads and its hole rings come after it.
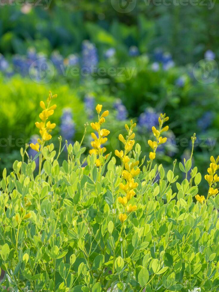
POLYGON ((98 64, 97 48, 90 41, 82 43, 82 69, 83 72, 91 74, 98 64))

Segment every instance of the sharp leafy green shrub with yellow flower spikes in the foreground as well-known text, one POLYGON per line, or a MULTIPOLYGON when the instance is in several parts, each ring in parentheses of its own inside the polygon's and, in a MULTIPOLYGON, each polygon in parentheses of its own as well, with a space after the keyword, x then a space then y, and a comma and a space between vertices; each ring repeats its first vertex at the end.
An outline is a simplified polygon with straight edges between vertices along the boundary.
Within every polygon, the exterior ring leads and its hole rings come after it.
POLYGON ((191 168, 195 135, 190 159, 179 164, 186 178, 178 181, 176 161, 165 173, 162 164, 154 164, 168 129, 168 117, 161 114, 159 128, 152 129, 155 139, 148 141, 149 160, 134 145, 131 121, 127 135, 118 137, 117 165, 111 153, 102 155, 110 135, 102 128, 108 111, 100 116, 97 105, 98 122, 91 127, 98 135, 92 133, 87 165, 83 139, 67 145, 68 159, 60 164, 63 148, 57 153, 48 144, 51 97, 48 106, 41 102, 41 139, 31 145, 35 159, 28 159, 26 146, 13 172, 3 171, 1 291, 217 291, 219 157, 211 157, 205 176, 206 199, 198 195, 201 174, 191 168), (36 175, 37 158, 42 168, 36 175))

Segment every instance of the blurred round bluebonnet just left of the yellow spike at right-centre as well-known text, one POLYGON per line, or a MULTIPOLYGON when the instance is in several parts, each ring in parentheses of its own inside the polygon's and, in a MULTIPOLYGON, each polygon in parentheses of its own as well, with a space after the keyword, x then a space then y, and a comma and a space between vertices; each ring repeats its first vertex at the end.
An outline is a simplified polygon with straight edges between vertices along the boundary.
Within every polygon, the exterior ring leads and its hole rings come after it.
POLYGON ((139 116, 139 126, 143 129, 151 130, 153 126, 158 124, 159 115, 153 108, 146 108, 145 111, 139 116))

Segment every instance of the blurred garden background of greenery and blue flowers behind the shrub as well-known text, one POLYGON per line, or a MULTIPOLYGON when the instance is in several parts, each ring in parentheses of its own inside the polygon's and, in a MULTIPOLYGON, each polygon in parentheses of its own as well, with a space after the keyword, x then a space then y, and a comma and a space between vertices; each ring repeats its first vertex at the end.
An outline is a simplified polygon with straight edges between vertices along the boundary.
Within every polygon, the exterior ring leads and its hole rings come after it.
POLYGON ((39 102, 51 90, 56 147, 59 135, 80 141, 102 103, 110 111, 107 151, 119 147, 132 118, 148 157, 151 127, 166 112, 170 131, 158 161, 169 167, 188 158, 195 132, 193 166, 205 174, 219 154, 218 15, 214 0, 1 1, 0 170, 37 139, 39 102))

